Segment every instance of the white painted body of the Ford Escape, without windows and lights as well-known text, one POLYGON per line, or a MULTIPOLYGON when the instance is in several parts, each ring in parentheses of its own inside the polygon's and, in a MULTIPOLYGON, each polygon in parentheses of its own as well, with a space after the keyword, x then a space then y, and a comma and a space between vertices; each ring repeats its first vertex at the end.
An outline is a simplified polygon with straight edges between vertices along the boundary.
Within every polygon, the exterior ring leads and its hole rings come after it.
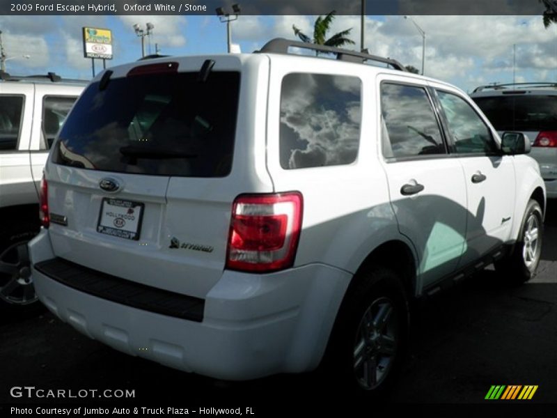
MULTIPOLYGON (((384 158, 379 141, 381 83, 441 88, 477 109, 453 86, 371 65, 272 53, 152 62, 175 61, 180 72, 198 72, 207 60, 216 63, 214 72, 242 74, 228 176, 137 176, 77 169, 55 164, 52 154, 47 163, 49 211, 67 217, 67 225, 51 222, 31 242, 37 293, 59 318, 117 350, 176 369, 235 380, 315 369, 347 288, 374 251, 389 245, 404 249, 402 264, 407 264, 413 277, 407 284, 409 293, 419 297, 437 291, 443 286, 441 279, 452 282, 470 266, 480 268, 492 256, 500 256, 503 245, 517 240, 531 196, 538 196, 544 206, 539 169, 526 155, 447 155, 400 162, 384 158), (364 116, 354 162, 281 167, 281 82, 293 72, 353 76, 361 81, 364 116), (472 185, 469 177, 476 171, 488 180, 472 185), (118 199, 145 203, 139 240, 97 232, 102 199, 111 196, 99 188, 105 178, 122 185, 115 195, 118 199), (419 198, 399 192, 411 179, 425 185, 419 198), (263 273, 226 268, 237 196, 290 191, 303 196, 293 265, 263 273), (416 208, 416 199, 425 199, 427 208, 416 208), (429 211, 434 207, 443 214, 439 217, 443 224, 429 211), (483 212, 478 213, 478 208, 483 212), (510 222, 501 222, 505 218, 510 222), (453 239, 448 229, 460 238, 453 239), (172 238, 179 241, 178 248, 171 244, 172 238), (186 295, 191 316, 166 316, 76 288, 81 284, 68 286, 52 278, 62 265, 75 269, 75 274, 109 275, 130 286, 186 295)), ((139 65, 146 63, 111 68, 110 77, 126 77, 139 65)), ((93 83, 102 77, 98 75, 93 83)), ((69 273, 68 277, 60 274, 68 282, 73 280, 69 273)))

